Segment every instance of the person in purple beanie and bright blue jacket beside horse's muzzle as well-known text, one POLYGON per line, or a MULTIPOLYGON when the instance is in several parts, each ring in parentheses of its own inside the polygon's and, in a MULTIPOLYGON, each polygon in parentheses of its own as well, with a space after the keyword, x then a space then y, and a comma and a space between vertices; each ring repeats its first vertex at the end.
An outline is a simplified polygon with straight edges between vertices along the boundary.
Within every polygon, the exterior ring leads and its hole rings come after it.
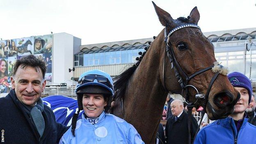
POLYGON ((252 144, 256 142, 256 126, 248 123, 245 110, 251 101, 251 81, 244 74, 233 72, 229 81, 240 93, 234 112, 225 119, 219 119, 202 128, 194 144, 252 144))

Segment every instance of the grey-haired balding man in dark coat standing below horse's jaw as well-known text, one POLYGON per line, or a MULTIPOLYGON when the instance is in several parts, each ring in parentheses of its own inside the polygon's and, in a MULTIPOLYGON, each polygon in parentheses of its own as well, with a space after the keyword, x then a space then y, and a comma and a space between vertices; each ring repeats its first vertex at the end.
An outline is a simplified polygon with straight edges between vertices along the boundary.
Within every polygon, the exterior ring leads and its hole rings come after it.
MULTIPOLYGON (((188 142, 188 114, 184 112, 184 105, 181 100, 171 102, 171 113, 165 126, 167 144, 187 144, 188 142)), ((191 142, 194 139, 198 124, 194 117, 191 117, 191 142)))

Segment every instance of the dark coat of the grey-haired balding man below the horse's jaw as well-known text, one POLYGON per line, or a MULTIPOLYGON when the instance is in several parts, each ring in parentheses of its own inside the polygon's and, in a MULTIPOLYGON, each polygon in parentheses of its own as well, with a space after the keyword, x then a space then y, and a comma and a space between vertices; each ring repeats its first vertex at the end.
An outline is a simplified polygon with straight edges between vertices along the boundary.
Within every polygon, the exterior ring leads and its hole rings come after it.
MULTIPOLYGON (((188 142, 188 114, 183 111, 178 120, 175 117, 169 117, 165 126, 165 135, 167 137, 167 144, 187 144, 188 142)), ((197 131, 197 120, 191 117, 191 142, 193 142, 195 133, 197 131)))

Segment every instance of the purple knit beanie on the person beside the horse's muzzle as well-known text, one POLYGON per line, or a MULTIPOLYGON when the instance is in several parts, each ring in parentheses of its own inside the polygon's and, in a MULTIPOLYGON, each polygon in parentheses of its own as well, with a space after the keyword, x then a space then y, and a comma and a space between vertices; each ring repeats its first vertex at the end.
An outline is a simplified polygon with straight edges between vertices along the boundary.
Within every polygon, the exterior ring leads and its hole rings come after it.
POLYGON ((239 72, 229 73, 228 78, 229 78, 229 81, 231 82, 231 85, 233 85, 233 87, 243 87, 248 90, 249 103, 250 103, 252 87, 251 87, 251 81, 249 80, 249 78, 247 78, 247 76, 239 72))

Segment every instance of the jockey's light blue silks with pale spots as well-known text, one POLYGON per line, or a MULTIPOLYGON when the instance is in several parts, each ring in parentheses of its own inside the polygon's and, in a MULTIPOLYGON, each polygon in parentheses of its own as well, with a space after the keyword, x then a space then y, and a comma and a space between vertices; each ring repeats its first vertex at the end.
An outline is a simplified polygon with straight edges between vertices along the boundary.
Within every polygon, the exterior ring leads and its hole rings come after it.
POLYGON ((102 112, 98 123, 94 125, 82 115, 82 119, 76 123, 75 137, 69 128, 59 144, 144 144, 144 142, 130 123, 113 114, 102 112))

